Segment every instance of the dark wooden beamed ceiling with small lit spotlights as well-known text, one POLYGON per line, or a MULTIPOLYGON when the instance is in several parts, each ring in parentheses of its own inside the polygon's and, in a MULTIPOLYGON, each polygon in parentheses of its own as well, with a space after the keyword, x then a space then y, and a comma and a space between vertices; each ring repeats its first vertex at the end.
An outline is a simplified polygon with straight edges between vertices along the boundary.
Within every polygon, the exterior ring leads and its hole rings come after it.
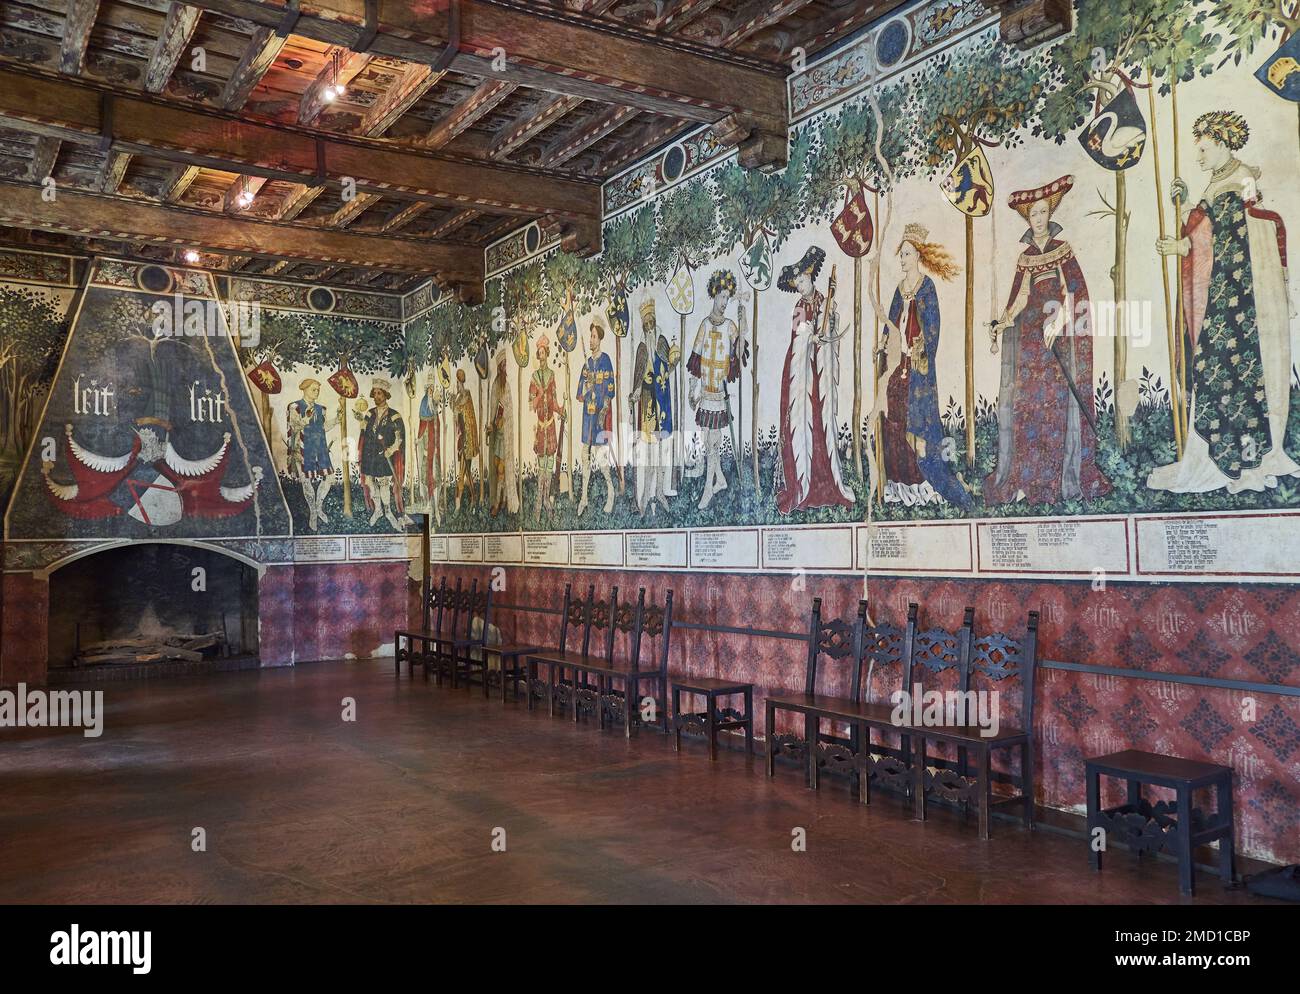
POLYGON ((599 251, 601 182, 684 130, 781 168, 792 52, 901 1, 0 0, 0 223, 472 300, 529 220, 599 251))

